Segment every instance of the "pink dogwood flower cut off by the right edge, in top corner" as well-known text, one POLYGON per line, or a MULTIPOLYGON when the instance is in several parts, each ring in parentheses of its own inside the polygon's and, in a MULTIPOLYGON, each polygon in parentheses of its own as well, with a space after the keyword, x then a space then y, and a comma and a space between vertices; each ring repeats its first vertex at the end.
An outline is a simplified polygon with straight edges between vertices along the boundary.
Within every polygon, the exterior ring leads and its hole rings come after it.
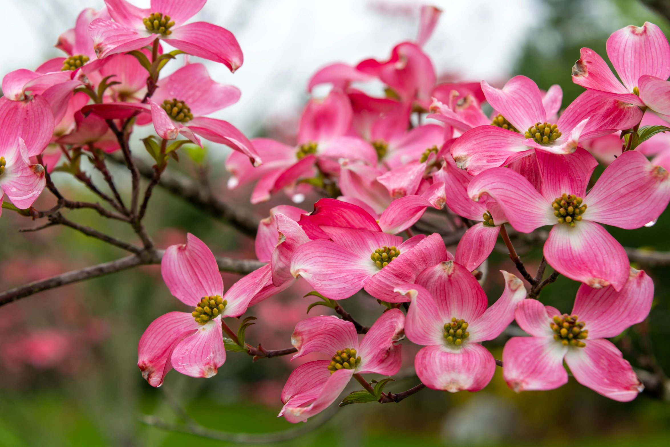
POLYGON ((670 45, 661 28, 645 22, 614 31, 607 39, 607 56, 622 82, 590 48, 582 48, 572 81, 602 96, 649 107, 670 120, 670 45))

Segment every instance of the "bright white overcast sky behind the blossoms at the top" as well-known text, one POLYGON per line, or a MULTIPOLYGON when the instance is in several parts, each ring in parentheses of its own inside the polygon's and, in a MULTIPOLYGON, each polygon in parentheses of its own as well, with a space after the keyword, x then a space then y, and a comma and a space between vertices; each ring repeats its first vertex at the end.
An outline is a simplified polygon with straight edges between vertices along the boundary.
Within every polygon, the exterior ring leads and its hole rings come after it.
MULTIPOLYGON (((149 7, 149 0, 133 0, 149 7)), ((193 20, 230 29, 245 61, 235 74, 201 61, 214 80, 242 90, 237 104, 211 116, 253 137, 263 126, 295 120, 307 98, 306 85, 331 62, 385 60, 395 44, 415 38, 419 6, 426 1, 209 0, 193 20)), ((541 11, 539 0, 434 0, 444 12, 425 51, 438 78, 504 81, 541 11), (504 5, 504 6, 503 6, 504 5), (534 13, 531 13, 533 11, 534 13)), ((36 68, 60 56, 53 48, 74 26, 84 7, 102 0, 0 0, 0 75, 36 68)), ((168 65, 170 71, 179 63, 168 65)))

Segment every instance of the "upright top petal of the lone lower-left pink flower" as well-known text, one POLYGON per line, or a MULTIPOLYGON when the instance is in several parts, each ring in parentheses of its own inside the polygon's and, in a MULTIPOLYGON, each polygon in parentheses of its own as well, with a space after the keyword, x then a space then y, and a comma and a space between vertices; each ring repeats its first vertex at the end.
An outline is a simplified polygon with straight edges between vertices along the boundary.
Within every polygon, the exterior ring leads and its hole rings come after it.
POLYGON ((195 306, 203 296, 223 294, 223 280, 212 250, 190 233, 186 244, 167 247, 161 275, 170 293, 189 306, 195 306))

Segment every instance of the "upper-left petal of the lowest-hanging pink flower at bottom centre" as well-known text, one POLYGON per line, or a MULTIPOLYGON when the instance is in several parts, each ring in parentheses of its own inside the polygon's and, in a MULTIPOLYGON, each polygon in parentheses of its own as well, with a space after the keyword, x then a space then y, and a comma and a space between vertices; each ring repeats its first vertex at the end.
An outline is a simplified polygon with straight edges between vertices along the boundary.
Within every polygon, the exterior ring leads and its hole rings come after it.
POLYGON ((358 351, 358 334, 354 323, 334 315, 320 315, 304 319, 295 325, 291 345, 297 349, 291 359, 313 352, 334 355, 340 349, 358 351))

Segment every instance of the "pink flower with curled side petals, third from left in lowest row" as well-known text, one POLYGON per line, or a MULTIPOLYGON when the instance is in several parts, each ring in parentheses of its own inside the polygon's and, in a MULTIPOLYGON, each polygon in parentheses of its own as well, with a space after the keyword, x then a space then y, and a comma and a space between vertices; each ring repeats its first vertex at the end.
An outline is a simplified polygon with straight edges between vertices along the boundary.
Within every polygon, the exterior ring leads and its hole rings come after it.
POLYGON ((526 297, 519 278, 500 272, 505 291, 488 308, 482 286, 453 261, 429 267, 416 284, 396 289, 411 299, 405 332, 413 343, 425 346, 417 353, 414 367, 427 387, 451 393, 479 391, 493 377, 495 359, 480 342, 498 337, 526 297))

